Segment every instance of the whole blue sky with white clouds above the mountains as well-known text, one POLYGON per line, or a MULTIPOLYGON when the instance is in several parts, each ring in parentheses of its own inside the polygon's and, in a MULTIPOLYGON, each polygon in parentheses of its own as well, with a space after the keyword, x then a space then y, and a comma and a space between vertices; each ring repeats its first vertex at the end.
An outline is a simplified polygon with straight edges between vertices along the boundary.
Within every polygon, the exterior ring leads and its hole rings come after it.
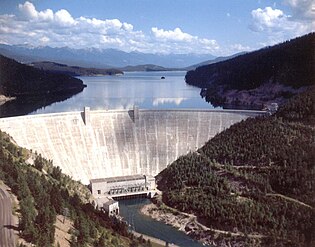
POLYGON ((0 43, 216 56, 315 31, 314 0, 0 0, 0 43))

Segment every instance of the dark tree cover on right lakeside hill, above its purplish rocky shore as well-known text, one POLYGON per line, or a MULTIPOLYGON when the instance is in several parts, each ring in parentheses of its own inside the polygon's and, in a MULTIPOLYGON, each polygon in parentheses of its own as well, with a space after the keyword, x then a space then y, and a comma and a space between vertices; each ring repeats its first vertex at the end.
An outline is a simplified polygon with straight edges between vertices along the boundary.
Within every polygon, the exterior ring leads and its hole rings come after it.
MULTIPOLYGON (((314 41, 315 33, 310 33, 233 59, 198 67, 188 71, 185 80, 188 84, 210 89, 221 85, 224 89, 249 90, 267 82, 295 88, 310 86, 315 80, 314 41)), ((203 94, 211 97, 206 91, 203 94)))

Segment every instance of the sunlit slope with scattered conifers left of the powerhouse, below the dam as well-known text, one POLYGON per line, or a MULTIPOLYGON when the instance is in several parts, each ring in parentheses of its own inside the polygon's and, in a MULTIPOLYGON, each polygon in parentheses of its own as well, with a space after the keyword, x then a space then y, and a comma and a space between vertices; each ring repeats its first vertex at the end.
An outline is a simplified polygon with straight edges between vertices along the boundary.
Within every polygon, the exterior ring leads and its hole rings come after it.
POLYGON ((52 161, 16 146, 1 131, 0 144, 0 180, 19 200, 18 230, 32 246, 53 246, 57 215, 65 215, 73 222, 71 247, 151 246, 131 235, 125 223, 94 209, 88 203, 87 188, 62 174, 52 161), (34 161, 32 165, 26 163, 30 159, 34 161))

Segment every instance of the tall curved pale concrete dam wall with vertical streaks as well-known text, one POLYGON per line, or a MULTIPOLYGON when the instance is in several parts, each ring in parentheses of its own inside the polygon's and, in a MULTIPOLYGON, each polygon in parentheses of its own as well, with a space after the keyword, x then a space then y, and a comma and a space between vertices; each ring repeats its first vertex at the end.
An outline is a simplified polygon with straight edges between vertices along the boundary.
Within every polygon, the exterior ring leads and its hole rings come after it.
POLYGON ((102 110, 0 119, 22 147, 53 160, 75 180, 157 175, 179 156, 261 111, 102 110))

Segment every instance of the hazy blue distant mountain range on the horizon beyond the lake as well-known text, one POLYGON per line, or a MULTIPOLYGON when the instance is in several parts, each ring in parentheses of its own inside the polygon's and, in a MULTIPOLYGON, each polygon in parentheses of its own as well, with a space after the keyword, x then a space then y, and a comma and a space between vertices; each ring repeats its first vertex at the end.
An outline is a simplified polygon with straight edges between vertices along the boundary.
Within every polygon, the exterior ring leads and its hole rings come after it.
POLYGON ((122 68, 154 64, 165 68, 185 68, 212 60, 210 54, 150 54, 115 49, 71 49, 0 44, 0 54, 22 63, 50 61, 86 68, 122 68))

